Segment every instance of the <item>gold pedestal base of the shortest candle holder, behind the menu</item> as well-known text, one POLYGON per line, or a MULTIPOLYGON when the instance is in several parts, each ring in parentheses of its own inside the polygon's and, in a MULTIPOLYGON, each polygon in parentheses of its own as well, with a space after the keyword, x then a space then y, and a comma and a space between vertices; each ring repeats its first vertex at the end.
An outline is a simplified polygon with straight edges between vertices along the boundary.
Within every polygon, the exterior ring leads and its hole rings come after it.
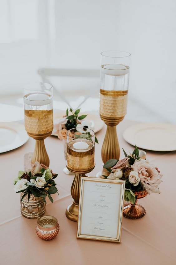
POLYGON ((73 198, 73 203, 69 205, 66 209, 66 217, 71 221, 78 221, 78 208, 79 208, 79 198, 80 198, 80 185, 81 177, 86 177, 86 174, 91 172, 95 168, 95 162, 92 167, 88 169, 73 169, 68 166, 66 162, 66 167, 72 173, 75 173, 75 178, 71 185, 71 196, 73 198))

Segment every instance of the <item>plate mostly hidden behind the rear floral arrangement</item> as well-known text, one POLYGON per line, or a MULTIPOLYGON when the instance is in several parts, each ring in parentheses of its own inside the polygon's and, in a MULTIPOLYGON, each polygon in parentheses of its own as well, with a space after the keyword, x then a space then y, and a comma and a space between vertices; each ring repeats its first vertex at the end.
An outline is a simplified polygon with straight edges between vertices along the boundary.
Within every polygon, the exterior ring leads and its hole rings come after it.
MULTIPOLYGON (((79 116, 81 115, 86 115, 87 113, 80 113, 79 116)), ((63 118, 66 115, 66 111, 60 111, 60 112, 55 112, 53 113, 53 120, 54 122, 56 122, 57 120, 63 118)), ((104 122, 100 119, 100 117, 88 113, 87 117, 84 119, 85 121, 91 122, 91 127, 94 127, 94 132, 98 132, 100 131, 103 126, 104 126, 104 122)), ((56 134, 53 134, 54 136, 57 136, 56 134)))

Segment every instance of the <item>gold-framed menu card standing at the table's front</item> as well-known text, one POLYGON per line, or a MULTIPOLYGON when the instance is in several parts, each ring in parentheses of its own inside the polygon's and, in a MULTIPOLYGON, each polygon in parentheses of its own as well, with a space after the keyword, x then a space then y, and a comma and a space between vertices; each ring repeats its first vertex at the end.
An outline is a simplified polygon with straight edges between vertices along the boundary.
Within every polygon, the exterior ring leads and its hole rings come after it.
POLYGON ((81 177, 77 238, 121 242, 125 180, 81 177))

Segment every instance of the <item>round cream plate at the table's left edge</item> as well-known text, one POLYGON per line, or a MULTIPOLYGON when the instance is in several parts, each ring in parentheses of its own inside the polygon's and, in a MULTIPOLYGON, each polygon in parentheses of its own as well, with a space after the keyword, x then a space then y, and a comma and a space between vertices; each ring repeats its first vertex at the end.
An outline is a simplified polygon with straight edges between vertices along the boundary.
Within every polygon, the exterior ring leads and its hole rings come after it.
POLYGON ((24 125, 15 122, 0 122, 0 153, 20 147, 28 139, 24 125))

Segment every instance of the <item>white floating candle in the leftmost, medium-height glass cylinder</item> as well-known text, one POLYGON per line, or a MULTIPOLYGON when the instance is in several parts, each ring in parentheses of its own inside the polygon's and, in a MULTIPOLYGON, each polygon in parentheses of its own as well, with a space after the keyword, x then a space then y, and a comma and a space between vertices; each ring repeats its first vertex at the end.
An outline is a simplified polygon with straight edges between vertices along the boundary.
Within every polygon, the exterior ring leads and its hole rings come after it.
POLYGON ((43 106, 52 102, 52 97, 45 93, 32 93, 24 96, 24 102, 31 106, 43 106))

